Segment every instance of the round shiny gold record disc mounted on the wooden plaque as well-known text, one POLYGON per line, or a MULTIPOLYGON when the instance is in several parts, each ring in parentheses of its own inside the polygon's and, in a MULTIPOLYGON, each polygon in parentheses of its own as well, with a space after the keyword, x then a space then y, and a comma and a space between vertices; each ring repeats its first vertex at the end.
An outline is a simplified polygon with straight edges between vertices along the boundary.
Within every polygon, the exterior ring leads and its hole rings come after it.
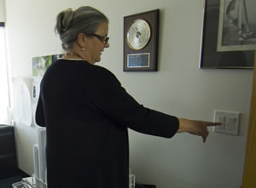
POLYGON ((151 31, 148 22, 135 20, 127 31, 127 43, 132 49, 144 48, 150 39, 151 31))

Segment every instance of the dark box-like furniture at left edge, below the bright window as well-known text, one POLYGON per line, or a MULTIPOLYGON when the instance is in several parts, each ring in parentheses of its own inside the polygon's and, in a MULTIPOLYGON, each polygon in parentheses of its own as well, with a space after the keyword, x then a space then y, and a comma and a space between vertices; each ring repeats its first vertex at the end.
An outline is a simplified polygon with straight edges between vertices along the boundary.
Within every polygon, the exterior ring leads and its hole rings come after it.
POLYGON ((15 128, 0 124, 0 179, 9 178, 18 172, 15 128))

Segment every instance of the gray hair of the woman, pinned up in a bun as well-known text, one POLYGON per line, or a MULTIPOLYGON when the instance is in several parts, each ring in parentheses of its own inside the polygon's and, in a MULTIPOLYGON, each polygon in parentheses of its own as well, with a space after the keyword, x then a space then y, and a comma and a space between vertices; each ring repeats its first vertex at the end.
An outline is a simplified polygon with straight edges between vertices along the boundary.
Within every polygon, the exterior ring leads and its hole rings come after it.
POLYGON ((79 9, 67 9, 57 15, 55 32, 60 35, 62 48, 70 50, 79 33, 92 34, 108 18, 99 10, 84 6, 79 9))

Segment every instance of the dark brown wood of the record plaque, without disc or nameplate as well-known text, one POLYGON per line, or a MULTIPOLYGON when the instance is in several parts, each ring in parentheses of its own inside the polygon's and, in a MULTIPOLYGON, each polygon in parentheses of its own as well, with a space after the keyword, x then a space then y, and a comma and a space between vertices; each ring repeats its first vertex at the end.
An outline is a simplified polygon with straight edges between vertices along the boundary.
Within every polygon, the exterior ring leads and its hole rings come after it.
POLYGON ((124 17, 124 68, 123 71, 157 71, 158 60, 158 36, 159 36, 159 14, 160 10, 155 9, 140 14, 132 14, 124 17), (135 20, 145 20, 151 29, 151 37, 146 47, 135 50, 129 47, 126 37, 127 31, 135 20), (148 67, 128 67, 127 58, 132 54, 149 54, 148 67))

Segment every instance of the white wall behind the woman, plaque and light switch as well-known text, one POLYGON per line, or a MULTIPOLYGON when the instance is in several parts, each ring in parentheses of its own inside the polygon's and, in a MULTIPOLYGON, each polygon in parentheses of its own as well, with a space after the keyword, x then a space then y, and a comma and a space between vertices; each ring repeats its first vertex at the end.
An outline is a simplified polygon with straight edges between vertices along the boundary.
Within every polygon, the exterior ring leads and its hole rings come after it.
MULTIPOLYGON (((241 185, 251 99, 252 70, 199 69, 203 0, 7 1, 13 77, 32 76, 32 57, 61 53, 55 16, 90 5, 110 20, 110 48, 101 66, 119 78, 137 101, 155 110, 212 121, 213 110, 241 111, 240 136, 212 133, 207 143, 189 134, 172 140, 130 132, 131 168, 141 183, 158 188, 238 188, 241 185), (124 72, 123 17, 160 9, 159 71, 124 72), (139 81, 139 82, 138 82, 139 81)), ((20 168, 32 174, 35 128, 17 125, 20 168)))

